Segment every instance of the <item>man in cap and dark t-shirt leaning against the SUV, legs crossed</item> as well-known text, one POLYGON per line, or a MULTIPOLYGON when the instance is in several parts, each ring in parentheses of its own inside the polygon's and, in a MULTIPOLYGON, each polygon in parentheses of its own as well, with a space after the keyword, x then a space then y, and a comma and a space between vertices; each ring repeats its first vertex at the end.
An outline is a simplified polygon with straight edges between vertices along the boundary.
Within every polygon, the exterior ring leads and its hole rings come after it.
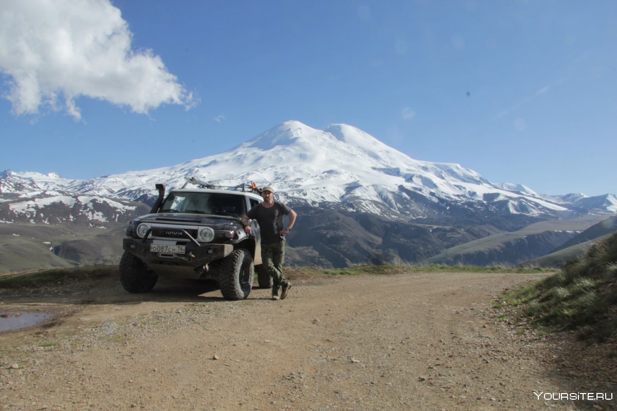
POLYGON ((274 201, 274 190, 265 187, 262 190, 263 203, 251 208, 242 217, 244 231, 251 235, 249 219, 255 219, 262 230, 262 264, 271 275, 274 285, 272 286, 272 299, 284 299, 287 296, 291 283, 283 275, 283 262, 285 260, 285 235, 291 231, 296 222, 296 212, 280 201, 274 201), (289 216, 287 228, 283 228, 283 216, 289 216), (281 296, 278 290, 281 288, 281 296))

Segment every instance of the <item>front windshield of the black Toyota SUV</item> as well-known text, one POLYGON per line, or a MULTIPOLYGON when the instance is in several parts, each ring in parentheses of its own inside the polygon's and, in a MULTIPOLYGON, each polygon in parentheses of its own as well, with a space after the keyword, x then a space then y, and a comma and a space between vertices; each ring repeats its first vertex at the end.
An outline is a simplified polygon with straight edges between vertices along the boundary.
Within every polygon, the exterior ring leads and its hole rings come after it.
POLYGON ((244 197, 241 195, 207 192, 172 192, 165 199, 161 211, 242 217, 246 214, 246 204, 244 197))

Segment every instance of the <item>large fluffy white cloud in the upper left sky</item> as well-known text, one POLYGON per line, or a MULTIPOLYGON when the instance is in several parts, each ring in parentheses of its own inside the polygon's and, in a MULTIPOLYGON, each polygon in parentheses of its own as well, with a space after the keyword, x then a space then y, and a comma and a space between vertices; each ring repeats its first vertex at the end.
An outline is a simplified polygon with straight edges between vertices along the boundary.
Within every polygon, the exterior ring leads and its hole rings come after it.
POLYGON ((152 51, 133 51, 131 32, 108 0, 3 0, 0 3, 2 96, 17 115, 41 105, 76 119, 87 96, 147 113, 161 104, 190 107, 193 96, 152 51))

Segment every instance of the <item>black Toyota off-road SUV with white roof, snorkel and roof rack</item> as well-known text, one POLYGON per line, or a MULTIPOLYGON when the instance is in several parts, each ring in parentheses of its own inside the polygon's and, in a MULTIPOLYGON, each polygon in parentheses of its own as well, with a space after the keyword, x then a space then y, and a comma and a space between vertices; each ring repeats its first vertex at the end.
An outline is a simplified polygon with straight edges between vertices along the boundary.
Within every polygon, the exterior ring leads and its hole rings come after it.
POLYGON ((164 185, 156 187, 159 197, 150 214, 126 229, 120 260, 126 291, 150 291, 159 275, 214 279, 225 299, 239 300, 251 293, 255 271, 260 287, 272 286, 260 269, 259 226, 252 221, 247 235, 240 220, 263 201, 254 183, 220 187, 191 178, 167 198, 164 185))

